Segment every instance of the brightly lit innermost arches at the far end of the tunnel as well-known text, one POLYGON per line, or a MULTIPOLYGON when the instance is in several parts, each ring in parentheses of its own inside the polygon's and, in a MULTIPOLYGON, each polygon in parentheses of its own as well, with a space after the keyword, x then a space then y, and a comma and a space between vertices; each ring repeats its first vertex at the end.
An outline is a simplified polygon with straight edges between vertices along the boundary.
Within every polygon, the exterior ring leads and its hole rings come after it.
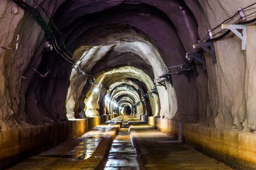
POLYGON ((99 108, 102 104, 105 104, 105 107, 103 107, 105 111, 103 112, 106 113, 107 110, 108 114, 119 112, 123 114, 125 109, 126 111, 129 110, 127 110, 127 106, 129 106, 132 108, 130 111, 132 113, 159 115, 160 101, 158 95, 152 94, 151 99, 143 97, 146 93, 151 92, 155 85, 142 70, 131 66, 115 68, 99 74, 96 82, 107 87, 107 89, 96 85, 90 86, 84 101, 86 116, 98 116, 99 108), (132 84, 125 84, 128 82, 132 82, 132 84), (143 89, 141 84, 145 85, 146 89, 143 89), (107 102, 102 103, 104 100, 107 102), (146 109, 146 102, 148 103, 148 110, 146 109))

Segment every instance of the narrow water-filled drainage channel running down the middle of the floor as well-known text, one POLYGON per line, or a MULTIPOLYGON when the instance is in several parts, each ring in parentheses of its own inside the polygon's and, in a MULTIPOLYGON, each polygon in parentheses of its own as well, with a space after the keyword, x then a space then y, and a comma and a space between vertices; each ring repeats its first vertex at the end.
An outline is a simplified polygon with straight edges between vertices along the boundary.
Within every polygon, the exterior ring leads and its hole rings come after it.
POLYGON ((139 170, 136 150, 129 134, 128 117, 125 115, 121 129, 115 137, 104 170, 139 170))

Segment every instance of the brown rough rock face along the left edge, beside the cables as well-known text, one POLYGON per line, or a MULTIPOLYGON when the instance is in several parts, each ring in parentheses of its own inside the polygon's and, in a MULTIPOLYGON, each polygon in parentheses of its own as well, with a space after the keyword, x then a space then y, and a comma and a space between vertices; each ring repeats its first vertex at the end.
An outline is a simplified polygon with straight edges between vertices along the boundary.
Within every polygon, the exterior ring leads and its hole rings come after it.
MULTIPOLYGON (((53 0, 41 5, 52 14, 61 3, 62 0, 53 0)), ((25 113, 25 92, 35 72, 29 65, 37 68, 41 61, 44 33, 37 22, 12 0, 1 0, 0 29, 0 47, 15 48, 19 34, 17 51, 0 48, 0 126, 7 130, 16 120, 31 122, 25 113)), ((31 107, 36 107, 37 100, 30 99, 31 107)), ((38 112, 39 119, 40 115, 38 112)))

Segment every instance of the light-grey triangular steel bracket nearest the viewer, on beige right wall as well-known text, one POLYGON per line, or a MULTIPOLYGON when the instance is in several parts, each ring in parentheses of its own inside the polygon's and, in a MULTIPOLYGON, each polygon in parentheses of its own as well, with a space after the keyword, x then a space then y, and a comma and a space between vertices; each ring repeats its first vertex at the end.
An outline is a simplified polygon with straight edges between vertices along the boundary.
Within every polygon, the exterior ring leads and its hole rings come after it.
POLYGON ((242 50, 246 50, 246 34, 247 34, 247 25, 228 25, 222 24, 222 29, 229 29, 232 31, 236 36, 238 36, 242 40, 242 50), (240 33, 238 30, 241 30, 240 33))

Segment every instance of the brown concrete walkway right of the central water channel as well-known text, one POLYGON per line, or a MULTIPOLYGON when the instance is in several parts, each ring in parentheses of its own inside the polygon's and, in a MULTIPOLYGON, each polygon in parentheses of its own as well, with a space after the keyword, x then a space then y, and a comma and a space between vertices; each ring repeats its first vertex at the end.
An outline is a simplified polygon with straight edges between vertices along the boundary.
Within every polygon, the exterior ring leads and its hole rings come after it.
POLYGON ((232 170, 149 125, 131 125, 130 134, 141 170, 232 170))

